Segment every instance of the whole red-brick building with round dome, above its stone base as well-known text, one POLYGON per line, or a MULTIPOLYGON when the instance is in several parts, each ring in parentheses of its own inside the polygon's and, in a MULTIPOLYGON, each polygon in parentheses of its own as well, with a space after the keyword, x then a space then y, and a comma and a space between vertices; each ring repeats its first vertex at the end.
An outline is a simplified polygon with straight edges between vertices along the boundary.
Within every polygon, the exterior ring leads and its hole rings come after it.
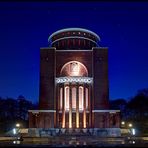
POLYGON ((109 110, 108 49, 81 28, 53 33, 40 49, 39 110, 29 110, 30 128, 119 128, 118 110, 109 110))

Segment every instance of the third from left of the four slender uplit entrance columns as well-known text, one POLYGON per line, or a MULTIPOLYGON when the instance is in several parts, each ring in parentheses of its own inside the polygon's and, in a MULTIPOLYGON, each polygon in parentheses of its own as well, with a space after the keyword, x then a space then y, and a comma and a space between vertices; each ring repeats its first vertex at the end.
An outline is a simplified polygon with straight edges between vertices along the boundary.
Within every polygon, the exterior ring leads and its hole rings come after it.
POLYGON ((76 84, 76 128, 79 128, 79 85, 76 84))

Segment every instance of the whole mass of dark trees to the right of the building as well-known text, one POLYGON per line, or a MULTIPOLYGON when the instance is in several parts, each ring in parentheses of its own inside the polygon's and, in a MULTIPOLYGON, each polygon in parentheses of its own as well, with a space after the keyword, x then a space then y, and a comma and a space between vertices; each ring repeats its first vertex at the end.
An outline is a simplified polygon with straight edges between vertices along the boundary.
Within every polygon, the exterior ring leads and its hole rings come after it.
MULTIPOLYGON (((125 99, 110 101, 111 109, 121 111, 121 120, 132 122, 141 133, 148 131, 148 89, 138 90, 128 102, 125 99)), ((147 133, 148 134, 148 133, 147 133)))

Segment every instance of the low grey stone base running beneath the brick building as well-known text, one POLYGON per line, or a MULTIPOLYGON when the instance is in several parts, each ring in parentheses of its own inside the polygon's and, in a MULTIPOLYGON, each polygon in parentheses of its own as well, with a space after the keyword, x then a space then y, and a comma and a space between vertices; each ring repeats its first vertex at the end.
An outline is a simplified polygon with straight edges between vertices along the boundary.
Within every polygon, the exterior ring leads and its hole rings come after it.
POLYGON ((120 128, 85 128, 85 129, 63 129, 63 128, 29 128, 29 137, 51 137, 51 136, 98 136, 98 137, 120 137, 120 128))

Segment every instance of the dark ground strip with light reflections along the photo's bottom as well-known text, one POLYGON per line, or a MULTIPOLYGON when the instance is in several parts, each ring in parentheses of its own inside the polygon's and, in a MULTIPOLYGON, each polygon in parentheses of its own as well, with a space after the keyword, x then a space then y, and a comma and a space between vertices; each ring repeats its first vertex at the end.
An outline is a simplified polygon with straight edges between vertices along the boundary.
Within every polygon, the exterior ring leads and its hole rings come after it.
POLYGON ((23 141, 14 137, 4 140, 0 137, 0 147, 148 147, 148 137, 132 138, 101 138, 91 136, 59 136, 44 138, 24 138, 23 141), (9 140, 8 140, 9 139, 9 140))

